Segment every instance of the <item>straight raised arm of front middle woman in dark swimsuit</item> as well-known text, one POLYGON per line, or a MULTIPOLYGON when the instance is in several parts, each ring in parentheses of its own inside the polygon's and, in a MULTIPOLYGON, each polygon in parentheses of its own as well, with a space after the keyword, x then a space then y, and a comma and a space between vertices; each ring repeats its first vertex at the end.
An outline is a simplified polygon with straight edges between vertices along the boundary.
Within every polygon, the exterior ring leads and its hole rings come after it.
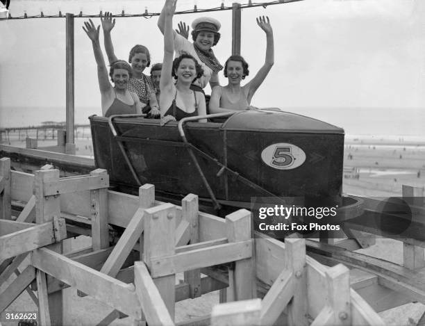
MULTIPOLYGON (((174 39, 173 39, 173 15, 176 10, 177 0, 166 0, 161 15, 164 16, 164 60, 161 70, 160 90, 169 92, 172 89, 172 66, 174 55, 174 39)), ((159 26, 159 25, 158 25, 159 26)), ((161 108, 161 113, 164 114, 167 108, 161 108)))

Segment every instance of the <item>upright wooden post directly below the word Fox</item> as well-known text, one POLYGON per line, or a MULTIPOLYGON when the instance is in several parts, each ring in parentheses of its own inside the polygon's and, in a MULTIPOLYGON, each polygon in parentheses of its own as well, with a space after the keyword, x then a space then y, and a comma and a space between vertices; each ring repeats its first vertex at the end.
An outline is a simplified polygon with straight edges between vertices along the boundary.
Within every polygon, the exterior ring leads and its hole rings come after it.
POLYGON ((304 239, 285 238, 288 270, 294 273, 294 298, 288 306, 289 325, 308 325, 306 243, 304 239))

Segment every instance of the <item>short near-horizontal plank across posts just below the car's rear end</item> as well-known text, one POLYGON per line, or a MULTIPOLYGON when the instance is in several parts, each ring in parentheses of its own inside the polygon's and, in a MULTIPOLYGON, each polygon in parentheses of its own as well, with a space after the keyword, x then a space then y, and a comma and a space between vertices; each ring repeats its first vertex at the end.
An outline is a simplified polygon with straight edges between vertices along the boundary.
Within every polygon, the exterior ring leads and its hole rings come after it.
POLYGON ((109 187, 109 175, 106 170, 97 169, 90 175, 60 178, 59 182, 44 183, 44 195, 60 195, 76 191, 97 190, 109 187))

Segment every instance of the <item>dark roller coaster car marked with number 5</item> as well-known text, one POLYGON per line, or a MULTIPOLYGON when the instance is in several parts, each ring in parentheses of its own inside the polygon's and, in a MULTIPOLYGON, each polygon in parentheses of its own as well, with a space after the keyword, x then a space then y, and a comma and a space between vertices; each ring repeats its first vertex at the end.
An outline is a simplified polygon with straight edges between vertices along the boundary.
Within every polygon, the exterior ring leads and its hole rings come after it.
POLYGON ((221 115, 222 123, 190 117, 164 126, 135 115, 94 115, 96 166, 124 193, 149 183, 162 200, 194 193, 216 210, 249 209, 252 197, 341 204, 343 129, 272 108, 221 115))

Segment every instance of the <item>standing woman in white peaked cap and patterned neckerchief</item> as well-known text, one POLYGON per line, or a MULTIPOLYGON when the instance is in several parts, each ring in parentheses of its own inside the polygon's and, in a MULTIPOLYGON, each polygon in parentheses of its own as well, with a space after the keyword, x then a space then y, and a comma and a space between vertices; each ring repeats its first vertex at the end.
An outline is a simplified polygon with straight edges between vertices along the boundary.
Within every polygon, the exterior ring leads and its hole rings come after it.
MULTIPOLYGON (((158 28, 164 34, 165 29, 165 8, 161 11, 158 19, 158 28)), ((182 24, 182 23, 181 23, 182 24)), ((210 83, 211 89, 219 85, 218 72, 223 69, 217 58, 215 58, 212 49, 220 39, 219 29, 220 22, 211 17, 199 17, 192 22, 192 39, 193 43, 182 36, 182 33, 172 31, 174 40, 174 49, 176 56, 183 53, 192 55, 203 69, 201 78, 194 81, 192 85, 193 90, 203 92, 203 88, 210 83)), ((182 31, 182 27, 179 24, 182 31)), ((184 28, 185 29, 185 28, 184 28)), ((188 33, 188 31, 186 32, 188 33)))

